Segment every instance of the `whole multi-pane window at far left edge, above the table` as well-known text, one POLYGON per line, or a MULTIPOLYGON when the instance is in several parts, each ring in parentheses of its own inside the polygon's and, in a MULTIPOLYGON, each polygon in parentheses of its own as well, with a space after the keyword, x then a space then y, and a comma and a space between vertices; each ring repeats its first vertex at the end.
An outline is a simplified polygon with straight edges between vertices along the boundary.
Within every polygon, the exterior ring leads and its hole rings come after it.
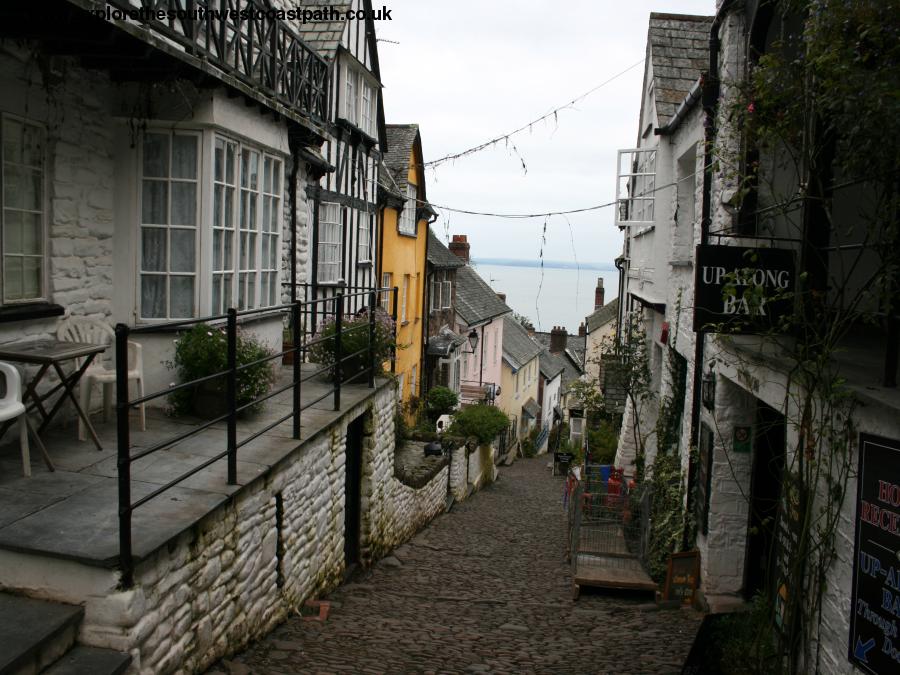
POLYGON ((0 118, 0 223, 3 304, 45 299, 44 129, 0 118))

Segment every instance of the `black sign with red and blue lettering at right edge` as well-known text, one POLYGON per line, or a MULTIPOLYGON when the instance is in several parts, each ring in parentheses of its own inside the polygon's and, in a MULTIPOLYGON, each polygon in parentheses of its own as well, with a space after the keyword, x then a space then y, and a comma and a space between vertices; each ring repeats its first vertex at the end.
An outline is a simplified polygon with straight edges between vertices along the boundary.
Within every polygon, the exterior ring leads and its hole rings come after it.
POLYGON ((900 671, 900 441, 859 435, 850 662, 900 671))

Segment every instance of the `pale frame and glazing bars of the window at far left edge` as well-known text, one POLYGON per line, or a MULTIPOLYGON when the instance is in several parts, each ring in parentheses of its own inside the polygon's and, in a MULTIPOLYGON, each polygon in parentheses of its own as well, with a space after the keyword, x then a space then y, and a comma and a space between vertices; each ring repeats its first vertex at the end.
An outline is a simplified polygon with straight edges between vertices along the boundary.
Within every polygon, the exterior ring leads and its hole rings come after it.
MULTIPOLYGON (((24 117, 19 117, 17 115, 10 115, 7 113, 3 113, 0 115, 0 252, 2 252, 2 256, 0 256, 0 288, 2 288, 2 305, 17 305, 23 303, 32 303, 32 302, 46 302, 48 299, 47 292, 47 129, 43 124, 39 124, 32 120, 26 119, 24 117), (10 123, 13 124, 21 124, 24 127, 30 127, 39 132, 40 135, 40 164, 24 164, 18 162, 8 161, 5 148, 6 143, 2 142, 7 128, 10 123), (5 200, 5 182, 7 180, 7 172, 6 167, 8 165, 17 166, 23 173, 26 172, 39 172, 40 176, 38 179, 38 186, 40 189, 40 194, 37 198, 37 204, 40 207, 40 210, 27 209, 23 207, 12 207, 6 203, 5 200), (6 237, 6 227, 7 227, 7 218, 9 213, 19 213, 19 214, 29 214, 31 216, 39 216, 38 218, 38 227, 36 233, 37 245, 38 245, 38 253, 25 253, 22 251, 21 253, 7 253, 7 237, 6 237), (21 259, 22 264, 22 297, 10 299, 7 297, 7 284, 6 284, 6 273, 7 273, 7 258, 8 257, 18 257, 21 259), (24 272, 24 263, 25 260, 37 259, 38 260, 38 292, 34 295, 26 296, 24 293, 24 283, 25 283, 25 272, 24 272)), ((24 232, 25 232, 25 224, 22 224, 22 239, 24 240, 24 232)), ((22 246, 20 246, 21 248, 22 246)))

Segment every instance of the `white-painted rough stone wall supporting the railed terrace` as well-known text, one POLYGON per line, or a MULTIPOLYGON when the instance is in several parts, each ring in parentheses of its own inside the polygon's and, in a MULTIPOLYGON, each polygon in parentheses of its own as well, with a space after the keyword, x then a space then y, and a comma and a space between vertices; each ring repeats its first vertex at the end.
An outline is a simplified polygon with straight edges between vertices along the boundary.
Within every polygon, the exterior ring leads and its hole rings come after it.
MULTIPOLYGON (((467 495, 466 448, 421 489, 394 477, 394 388, 306 441, 268 474, 142 561, 135 586, 83 599, 80 641, 131 653, 135 673, 199 672, 244 648, 306 599, 336 587, 344 565, 347 428, 363 416, 360 562, 373 563, 446 508, 447 475, 467 495)), ((469 456, 483 483, 491 448, 469 456)), ((470 467, 471 468, 471 467, 470 467)))

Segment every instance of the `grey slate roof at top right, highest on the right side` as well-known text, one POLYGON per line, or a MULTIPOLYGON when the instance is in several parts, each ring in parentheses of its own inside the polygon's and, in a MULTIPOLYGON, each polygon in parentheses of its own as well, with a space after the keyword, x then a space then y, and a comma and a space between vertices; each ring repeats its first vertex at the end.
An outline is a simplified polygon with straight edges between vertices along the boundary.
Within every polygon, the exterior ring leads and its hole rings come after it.
POLYGON ((647 60, 653 64, 653 97, 659 126, 675 116, 700 73, 709 68, 713 17, 651 12, 647 60))

